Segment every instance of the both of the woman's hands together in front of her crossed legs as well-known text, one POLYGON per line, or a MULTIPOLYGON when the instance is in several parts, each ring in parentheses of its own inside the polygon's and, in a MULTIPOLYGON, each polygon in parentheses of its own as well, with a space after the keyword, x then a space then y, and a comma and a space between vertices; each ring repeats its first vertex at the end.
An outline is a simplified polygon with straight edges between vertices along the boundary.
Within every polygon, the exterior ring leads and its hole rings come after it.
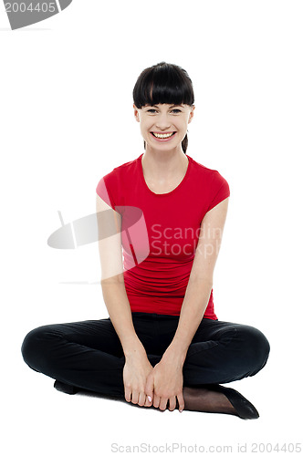
POLYGON ((171 411, 184 409, 183 365, 169 355, 152 368, 148 358, 137 356, 127 358, 123 369, 125 399, 133 404, 165 410, 169 402, 171 411), (150 399, 151 400, 150 400, 150 399))

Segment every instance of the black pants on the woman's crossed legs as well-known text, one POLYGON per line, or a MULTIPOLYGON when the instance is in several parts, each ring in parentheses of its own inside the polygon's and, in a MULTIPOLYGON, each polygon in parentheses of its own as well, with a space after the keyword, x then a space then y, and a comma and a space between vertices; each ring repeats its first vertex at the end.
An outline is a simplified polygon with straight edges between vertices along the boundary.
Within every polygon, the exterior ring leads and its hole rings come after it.
MULTIPOLYGON (((170 345, 179 316, 132 313, 155 366, 170 345)), ((22 344, 26 364, 68 385, 124 396, 125 358, 110 318, 39 326, 22 344)), ((183 386, 228 383, 254 376, 266 365, 269 344, 253 326, 203 318, 183 364, 183 386)))

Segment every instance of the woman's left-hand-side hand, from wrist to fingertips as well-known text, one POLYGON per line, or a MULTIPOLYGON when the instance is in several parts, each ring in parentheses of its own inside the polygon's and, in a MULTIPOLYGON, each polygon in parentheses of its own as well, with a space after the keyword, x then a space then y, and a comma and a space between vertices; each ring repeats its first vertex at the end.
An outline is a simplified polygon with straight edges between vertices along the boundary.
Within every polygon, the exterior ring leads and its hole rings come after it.
MULTIPOLYGON (((124 395, 128 402, 151 407, 152 400, 145 394, 146 379, 152 366, 144 351, 137 351, 125 358, 123 368, 124 395)), ((150 395, 152 396, 152 395, 150 395)))

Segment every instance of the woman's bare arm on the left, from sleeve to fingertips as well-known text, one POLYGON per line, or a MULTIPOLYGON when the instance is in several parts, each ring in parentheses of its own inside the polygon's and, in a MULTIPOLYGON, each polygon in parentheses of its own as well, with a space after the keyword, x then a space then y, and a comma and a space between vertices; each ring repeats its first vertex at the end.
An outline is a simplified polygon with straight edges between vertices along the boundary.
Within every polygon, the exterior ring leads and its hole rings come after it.
POLYGON ((151 406, 144 393, 146 378, 152 366, 137 336, 126 294, 121 253, 121 216, 97 194, 96 212, 101 263, 101 287, 110 321, 120 338, 125 356, 123 381, 125 399, 134 404, 151 406), (106 215, 104 213, 106 212, 106 215), (102 214, 103 212, 103 214, 102 214), (109 234, 111 234, 109 236, 109 234))

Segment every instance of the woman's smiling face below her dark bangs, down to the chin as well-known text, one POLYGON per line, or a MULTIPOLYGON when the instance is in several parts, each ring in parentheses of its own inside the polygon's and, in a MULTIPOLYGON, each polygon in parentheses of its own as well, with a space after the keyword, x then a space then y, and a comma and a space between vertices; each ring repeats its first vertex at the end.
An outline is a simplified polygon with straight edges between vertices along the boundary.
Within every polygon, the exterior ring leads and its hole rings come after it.
POLYGON ((141 109, 133 105, 134 115, 140 122, 141 135, 146 148, 176 149, 187 132, 187 125, 193 119, 194 106, 189 105, 145 105, 141 109))

